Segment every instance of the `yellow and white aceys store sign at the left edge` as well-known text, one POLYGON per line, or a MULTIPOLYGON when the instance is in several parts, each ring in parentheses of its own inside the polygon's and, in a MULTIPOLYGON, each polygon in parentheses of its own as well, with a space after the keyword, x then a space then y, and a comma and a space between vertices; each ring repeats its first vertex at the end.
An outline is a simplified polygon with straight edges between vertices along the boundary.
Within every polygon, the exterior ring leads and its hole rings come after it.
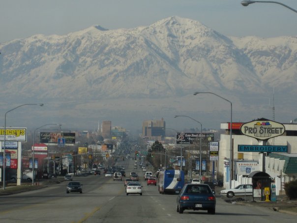
MULTIPOLYGON (((8 128, 5 128, 5 130, 6 130, 5 141, 7 140, 7 141, 27 142, 27 128, 8 127, 8 128)), ((4 141, 3 127, 0 128, 0 141, 4 141)))

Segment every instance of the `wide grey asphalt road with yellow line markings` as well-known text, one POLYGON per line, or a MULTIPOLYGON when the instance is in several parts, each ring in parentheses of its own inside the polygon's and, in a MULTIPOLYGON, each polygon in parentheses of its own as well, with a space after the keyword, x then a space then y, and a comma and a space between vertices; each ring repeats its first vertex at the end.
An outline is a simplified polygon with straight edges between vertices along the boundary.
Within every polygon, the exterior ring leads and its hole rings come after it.
MULTIPOLYGON (((119 161, 128 177, 134 160, 119 161)), ((217 197, 216 214, 207 211, 176 211, 176 195, 160 194, 157 186, 147 186, 141 168, 137 169, 143 195, 126 195, 123 181, 104 176, 74 177, 83 183, 83 193, 66 194, 66 184, 8 196, 0 196, 0 222, 60 223, 292 223, 296 216, 256 206, 241 206, 217 197)))

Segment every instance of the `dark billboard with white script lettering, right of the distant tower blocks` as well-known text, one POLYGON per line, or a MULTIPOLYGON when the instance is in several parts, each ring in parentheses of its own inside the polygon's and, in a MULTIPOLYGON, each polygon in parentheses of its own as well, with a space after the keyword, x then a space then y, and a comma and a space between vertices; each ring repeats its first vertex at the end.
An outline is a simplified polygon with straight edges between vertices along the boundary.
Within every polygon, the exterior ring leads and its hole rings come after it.
MULTIPOLYGON (((202 140, 207 139, 207 141, 212 141, 214 139, 213 133, 202 133, 202 140)), ((200 133, 185 133, 177 132, 176 133, 177 144, 196 144, 200 142, 200 133)))

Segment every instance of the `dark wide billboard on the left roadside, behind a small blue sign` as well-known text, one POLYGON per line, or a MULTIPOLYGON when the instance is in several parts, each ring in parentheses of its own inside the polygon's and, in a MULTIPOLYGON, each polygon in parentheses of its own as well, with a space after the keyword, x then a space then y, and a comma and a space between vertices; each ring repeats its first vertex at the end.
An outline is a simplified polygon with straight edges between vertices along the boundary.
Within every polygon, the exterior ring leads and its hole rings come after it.
POLYGON ((40 132, 40 143, 56 146, 58 139, 64 138, 66 146, 75 144, 75 133, 72 132, 40 132))

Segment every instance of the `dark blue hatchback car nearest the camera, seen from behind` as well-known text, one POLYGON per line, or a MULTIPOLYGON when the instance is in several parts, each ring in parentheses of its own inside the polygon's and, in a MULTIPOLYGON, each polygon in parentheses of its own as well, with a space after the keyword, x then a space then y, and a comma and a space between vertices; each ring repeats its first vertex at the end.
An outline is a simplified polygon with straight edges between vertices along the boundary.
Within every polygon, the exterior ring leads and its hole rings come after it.
POLYGON ((178 194, 177 212, 184 210, 207 210, 215 214, 216 199, 214 192, 207 184, 186 184, 178 194))

